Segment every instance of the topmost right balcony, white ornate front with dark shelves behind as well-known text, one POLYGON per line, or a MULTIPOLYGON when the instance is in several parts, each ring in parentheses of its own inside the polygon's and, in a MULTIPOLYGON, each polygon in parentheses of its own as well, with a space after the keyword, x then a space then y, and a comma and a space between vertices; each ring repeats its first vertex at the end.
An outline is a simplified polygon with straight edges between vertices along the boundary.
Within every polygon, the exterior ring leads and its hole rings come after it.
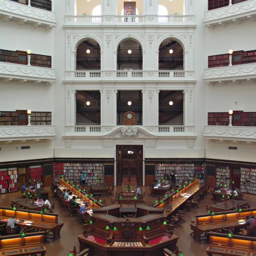
POLYGON ((206 27, 256 20, 256 0, 210 0, 208 3, 208 11, 204 13, 206 27))

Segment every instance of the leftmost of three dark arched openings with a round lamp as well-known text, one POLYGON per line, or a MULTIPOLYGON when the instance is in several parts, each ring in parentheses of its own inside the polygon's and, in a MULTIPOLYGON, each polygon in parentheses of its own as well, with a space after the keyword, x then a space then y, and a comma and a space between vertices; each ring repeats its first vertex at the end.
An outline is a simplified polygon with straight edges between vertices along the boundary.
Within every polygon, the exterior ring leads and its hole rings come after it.
POLYGON ((77 47, 76 70, 100 70, 100 46, 95 40, 84 39, 77 47))

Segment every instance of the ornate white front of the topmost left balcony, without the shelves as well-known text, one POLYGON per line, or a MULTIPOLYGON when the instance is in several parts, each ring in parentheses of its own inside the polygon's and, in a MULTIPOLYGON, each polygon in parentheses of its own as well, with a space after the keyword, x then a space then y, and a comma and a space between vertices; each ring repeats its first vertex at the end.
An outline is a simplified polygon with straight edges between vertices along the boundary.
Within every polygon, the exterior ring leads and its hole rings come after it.
POLYGON ((55 13, 42 10, 39 8, 15 3, 9 0, 0 0, 0 14, 10 18, 23 20, 25 22, 31 22, 37 25, 45 25, 47 27, 56 26, 55 13))

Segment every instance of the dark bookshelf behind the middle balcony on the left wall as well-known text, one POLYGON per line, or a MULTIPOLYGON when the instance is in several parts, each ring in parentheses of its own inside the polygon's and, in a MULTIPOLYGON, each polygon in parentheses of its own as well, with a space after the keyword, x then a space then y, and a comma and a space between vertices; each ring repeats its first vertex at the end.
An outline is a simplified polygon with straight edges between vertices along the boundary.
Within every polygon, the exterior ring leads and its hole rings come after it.
MULTIPOLYGON (((32 1, 31 1, 32 3, 32 1)), ((0 61, 10 62, 15 64, 27 65, 27 52, 24 51, 9 51, 0 49, 0 61)), ((31 66, 51 68, 52 67, 52 57, 48 55, 41 54, 31 54, 30 59, 31 66)))

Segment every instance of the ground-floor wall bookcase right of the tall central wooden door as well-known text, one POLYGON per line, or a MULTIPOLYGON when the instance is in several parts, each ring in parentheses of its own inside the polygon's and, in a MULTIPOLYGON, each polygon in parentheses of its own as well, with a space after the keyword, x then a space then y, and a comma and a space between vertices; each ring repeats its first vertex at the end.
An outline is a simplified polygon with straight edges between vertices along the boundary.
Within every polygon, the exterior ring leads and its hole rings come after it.
POLYGON ((176 183, 180 184, 182 181, 195 176, 196 169, 194 163, 157 163, 155 177, 159 180, 165 173, 170 174, 174 171, 176 183))

